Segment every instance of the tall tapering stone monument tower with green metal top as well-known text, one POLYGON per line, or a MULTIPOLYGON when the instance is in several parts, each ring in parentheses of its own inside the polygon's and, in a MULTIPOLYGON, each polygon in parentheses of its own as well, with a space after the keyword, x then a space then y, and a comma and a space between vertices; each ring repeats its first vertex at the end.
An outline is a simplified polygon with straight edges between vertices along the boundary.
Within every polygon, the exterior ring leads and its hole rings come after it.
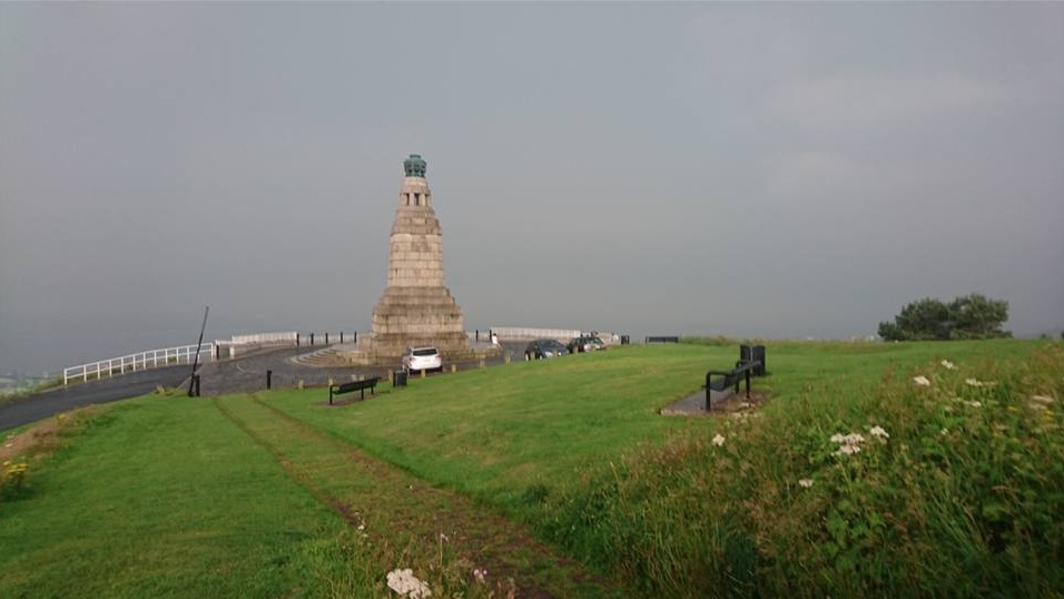
POLYGON ((374 362, 395 362, 407 346, 434 345, 444 357, 467 357, 473 350, 465 318, 443 284, 443 233, 432 209, 425 180, 426 163, 412 154, 403 163, 405 177, 388 251, 388 284, 373 308, 370 337, 358 350, 374 362))

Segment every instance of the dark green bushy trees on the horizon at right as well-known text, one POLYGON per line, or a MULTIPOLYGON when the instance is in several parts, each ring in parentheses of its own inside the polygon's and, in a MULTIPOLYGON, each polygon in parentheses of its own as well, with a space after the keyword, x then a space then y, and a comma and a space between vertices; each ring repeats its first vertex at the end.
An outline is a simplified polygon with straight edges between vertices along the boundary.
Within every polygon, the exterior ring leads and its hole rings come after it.
POLYGON ((925 297, 902 308, 894 322, 879 323, 885 341, 945 341, 1011 337, 1002 330, 1008 302, 973 293, 949 304, 925 297))

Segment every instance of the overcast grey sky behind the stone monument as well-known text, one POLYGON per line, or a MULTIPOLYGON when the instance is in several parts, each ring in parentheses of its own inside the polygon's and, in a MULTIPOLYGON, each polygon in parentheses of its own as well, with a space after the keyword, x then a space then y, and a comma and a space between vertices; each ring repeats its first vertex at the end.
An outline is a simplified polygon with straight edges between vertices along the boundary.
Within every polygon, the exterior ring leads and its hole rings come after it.
POLYGON ((402 161, 466 324, 1064 326, 1062 3, 0 3, 0 371, 366 331, 402 161))

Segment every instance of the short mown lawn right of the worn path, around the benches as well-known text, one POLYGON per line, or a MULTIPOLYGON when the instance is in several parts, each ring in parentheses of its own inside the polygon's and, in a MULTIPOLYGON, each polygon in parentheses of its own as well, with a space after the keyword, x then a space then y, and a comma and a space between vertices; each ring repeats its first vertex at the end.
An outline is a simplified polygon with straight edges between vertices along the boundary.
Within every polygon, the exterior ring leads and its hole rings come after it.
MULTIPOLYGON (((884 373, 933 360, 999 360, 1031 342, 924 344, 769 343, 772 376, 756 381, 778 402, 809 389, 831 403, 878 384, 884 373), (834 397, 834 399, 833 399, 834 397)), ((705 372, 735 363, 735 346, 661 345, 514 363, 502 369, 413 380, 374 401, 321 405, 323 392, 265 394, 280 410, 436 483, 503 510, 618 460, 641 442, 705 419, 657 410, 699 391, 705 372)))

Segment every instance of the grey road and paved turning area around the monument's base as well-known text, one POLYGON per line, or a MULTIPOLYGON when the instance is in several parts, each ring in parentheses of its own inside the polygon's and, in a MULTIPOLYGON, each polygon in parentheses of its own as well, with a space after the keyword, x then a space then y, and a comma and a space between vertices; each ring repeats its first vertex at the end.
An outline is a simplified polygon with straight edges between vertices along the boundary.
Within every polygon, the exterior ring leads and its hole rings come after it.
MULTIPOLYGON (((506 356, 523 359, 528 342, 503 342, 503 353, 506 356)), ((229 393, 254 393, 266 389, 266 371, 272 371, 270 389, 293 389, 303 381, 306 386, 325 386, 332 379, 334 383, 354 381, 359 376, 382 376, 391 379, 391 371, 398 370, 387 366, 347 366, 319 367, 297 364, 289 359, 313 353, 324 346, 316 347, 285 347, 265 351, 231 360, 220 360, 200 364, 199 391, 201 395, 224 395, 229 393)), ((485 365, 502 364, 505 357, 486 361, 485 365)), ((477 367, 477 362, 459 363, 459 370, 477 367)), ((444 370, 451 365, 444 363, 444 370)), ((191 366, 165 366, 140 371, 114 377, 73 383, 68 386, 52 389, 11 402, 0 404, 0 431, 37 422, 48 416, 83 407, 96 403, 107 403, 127 400, 151 393, 157 386, 186 387, 191 374, 191 366)), ((432 376, 432 374, 430 374, 432 376)))

